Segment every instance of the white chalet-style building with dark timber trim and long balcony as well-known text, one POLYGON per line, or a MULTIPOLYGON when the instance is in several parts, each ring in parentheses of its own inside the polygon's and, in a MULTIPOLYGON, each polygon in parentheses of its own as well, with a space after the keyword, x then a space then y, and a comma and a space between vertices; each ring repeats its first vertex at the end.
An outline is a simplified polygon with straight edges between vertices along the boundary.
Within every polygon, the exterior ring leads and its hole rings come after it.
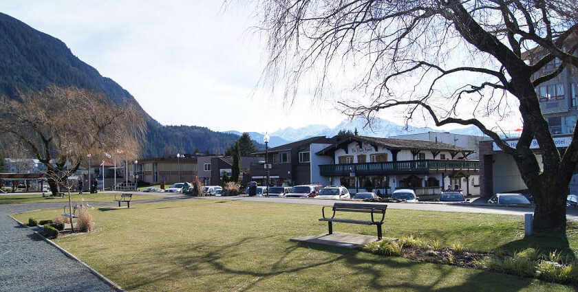
POLYGON ((464 194, 479 193, 479 161, 474 151, 431 141, 350 135, 315 153, 324 185, 342 185, 357 192, 370 188, 391 194, 411 188, 416 194, 439 194, 451 186, 464 194), (475 179, 478 179, 476 182, 475 179))

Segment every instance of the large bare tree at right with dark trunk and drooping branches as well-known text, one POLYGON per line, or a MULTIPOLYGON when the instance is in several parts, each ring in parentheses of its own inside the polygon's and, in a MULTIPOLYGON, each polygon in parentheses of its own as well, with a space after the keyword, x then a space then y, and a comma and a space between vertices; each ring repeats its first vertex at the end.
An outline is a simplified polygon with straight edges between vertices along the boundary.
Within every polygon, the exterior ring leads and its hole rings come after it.
POLYGON ((258 7, 268 34, 265 84, 285 85, 292 100, 303 79, 317 78, 316 96, 353 80, 356 98, 339 102, 350 117, 369 122, 401 106, 406 122, 477 126, 515 159, 535 198, 535 230, 565 231, 577 135, 560 153, 535 88, 578 68, 576 1, 263 0, 258 7), (511 113, 524 126, 515 148, 489 126, 511 113))

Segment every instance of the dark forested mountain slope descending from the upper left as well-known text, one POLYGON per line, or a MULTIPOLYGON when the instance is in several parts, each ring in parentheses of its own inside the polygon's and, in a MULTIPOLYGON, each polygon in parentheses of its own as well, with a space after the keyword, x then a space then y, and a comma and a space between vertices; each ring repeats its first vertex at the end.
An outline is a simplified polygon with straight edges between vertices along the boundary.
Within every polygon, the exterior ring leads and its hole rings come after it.
MULTIPOLYGON (((114 80, 76 58, 58 38, 0 13, 0 96, 17 98, 18 91, 37 91, 52 84, 100 91, 118 103, 134 101, 114 80)), ((224 153, 227 145, 239 139, 239 135, 199 126, 162 126, 142 113, 148 117, 142 157, 158 157, 173 150, 224 153)))

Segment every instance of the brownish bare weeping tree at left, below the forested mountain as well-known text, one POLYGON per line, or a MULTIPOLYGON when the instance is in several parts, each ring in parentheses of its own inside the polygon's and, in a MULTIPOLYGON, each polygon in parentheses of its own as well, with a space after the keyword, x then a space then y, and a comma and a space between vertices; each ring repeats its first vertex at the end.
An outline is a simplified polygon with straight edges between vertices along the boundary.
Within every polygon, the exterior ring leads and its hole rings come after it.
MULTIPOLYGON (((0 132, 21 142, 47 166, 52 194, 91 154, 122 149, 138 157, 145 121, 136 104, 114 104, 102 93, 74 87, 49 87, 21 93, 18 100, 0 100, 0 132)), ((124 155, 123 155, 124 156, 124 155)))

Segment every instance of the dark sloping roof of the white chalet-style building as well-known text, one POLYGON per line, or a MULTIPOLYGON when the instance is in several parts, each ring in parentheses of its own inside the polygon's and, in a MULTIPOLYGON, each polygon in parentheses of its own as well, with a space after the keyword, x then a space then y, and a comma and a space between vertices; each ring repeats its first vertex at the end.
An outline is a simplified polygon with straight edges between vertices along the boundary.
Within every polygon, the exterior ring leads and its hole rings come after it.
POLYGON ((343 144, 350 144, 351 142, 367 142, 374 147, 383 146, 389 150, 411 149, 411 150, 447 150, 447 151, 467 152, 467 153, 475 152, 475 150, 453 146, 450 144, 440 142, 350 135, 345 137, 342 136, 342 139, 339 139, 339 141, 335 142, 332 146, 329 146, 317 152, 317 155, 330 155, 330 153, 333 153, 334 150, 343 148, 343 144))

